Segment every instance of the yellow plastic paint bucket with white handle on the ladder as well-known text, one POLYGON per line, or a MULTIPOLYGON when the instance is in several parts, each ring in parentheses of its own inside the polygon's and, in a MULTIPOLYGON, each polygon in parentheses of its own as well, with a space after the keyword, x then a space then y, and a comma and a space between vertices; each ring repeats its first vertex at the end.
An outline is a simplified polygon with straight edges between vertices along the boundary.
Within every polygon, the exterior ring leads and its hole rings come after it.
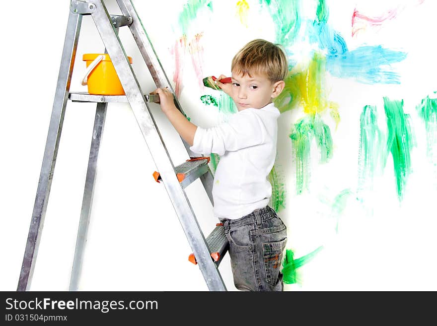
MULTIPOLYGON (((132 64, 132 58, 128 57, 132 64)), ((88 93, 94 95, 125 95, 120 79, 108 54, 87 53, 82 60, 86 62, 82 85, 88 85, 88 93)))

